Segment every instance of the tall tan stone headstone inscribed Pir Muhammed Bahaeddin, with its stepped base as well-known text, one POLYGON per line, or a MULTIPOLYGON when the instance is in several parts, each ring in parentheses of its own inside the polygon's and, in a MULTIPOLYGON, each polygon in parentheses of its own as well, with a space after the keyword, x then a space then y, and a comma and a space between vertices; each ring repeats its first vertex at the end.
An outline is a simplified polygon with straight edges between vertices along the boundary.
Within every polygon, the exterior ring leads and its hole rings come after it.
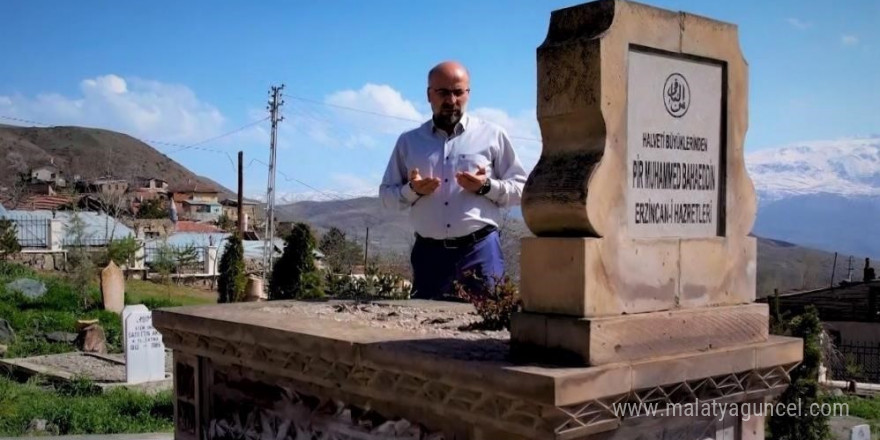
POLYGON ((513 346, 602 365, 767 340, 737 32, 619 0, 553 12, 513 346))

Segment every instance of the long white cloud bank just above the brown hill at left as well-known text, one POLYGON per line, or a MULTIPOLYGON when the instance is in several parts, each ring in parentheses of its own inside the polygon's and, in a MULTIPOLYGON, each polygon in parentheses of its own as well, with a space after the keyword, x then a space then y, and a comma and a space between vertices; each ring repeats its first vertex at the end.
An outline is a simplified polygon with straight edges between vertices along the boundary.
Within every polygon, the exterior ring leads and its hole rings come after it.
POLYGON ((221 112, 186 86, 114 74, 80 81, 77 96, 0 96, 0 114, 180 143, 198 142, 228 129, 221 112))

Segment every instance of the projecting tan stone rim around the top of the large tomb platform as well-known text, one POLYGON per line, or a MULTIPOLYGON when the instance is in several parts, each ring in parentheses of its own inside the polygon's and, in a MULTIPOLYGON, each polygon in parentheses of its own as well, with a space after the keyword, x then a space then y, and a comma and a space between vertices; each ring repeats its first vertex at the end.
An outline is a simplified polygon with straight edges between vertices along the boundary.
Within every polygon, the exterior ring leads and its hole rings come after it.
MULTIPOLYGON (((199 341, 200 338, 216 338, 225 341, 230 348, 242 344, 255 346, 255 350, 262 351, 266 358, 271 357, 269 354, 272 351, 304 352, 335 362, 351 362, 355 365, 415 374, 439 382, 450 382, 553 406, 629 393, 633 390, 634 369, 639 371, 640 368, 647 368, 642 365, 652 365, 660 369, 663 369, 664 365, 677 365, 674 371, 678 372, 678 376, 675 378, 690 380, 730 374, 735 372, 731 370, 733 366, 747 371, 796 364, 800 362, 802 356, 800 339, 771 336, 766 342, 660 357, 646 360, 644 363, 564 368, 452 360, 407 349, 407 345, 411 347, 411 344, 417 344, 420 339, 426 339, 420 338, 419 335, 411 334, 405 339, 400 335, 404 332, 387 331, 388 338, 383 341, 378 335, 386 333, 386 329, 369 328, 366 330, 372 330, 373 334, 364 336, 359 331, 361 329, 352 329, 346 325, 348 323, 330 320, 287 320, 285 324, 287 328, 266 327, 265 314, 255 315, 236 306, 223 306, 214 310, 210 309, 210 306, 190 308, 189 311, 162 309, 154 311, 153 319, 154 325, 165 336, 169 347, 184 352, 198 351, 199 344, 186 345, 175 338, 187 335, 195 341, 199 341), (237 322, 214 320, 210 317, 212 312, 235 316, 237 322), (304 328, 308 332, 302 332, 298 328, 304 328), (340 337, 340 331, 350 337, 340 337), (406 341, 407 344, 395 344, 402 341, 406 341), (746 359, 746 362, 733 364, 712 362, 714 358, 725 356, 746 359)), ((224 356, 222 352, 211 350, 203 350, 195 354, 208 357, 224 356)), ((294 379, 303 380, 303 378, 294 379)))

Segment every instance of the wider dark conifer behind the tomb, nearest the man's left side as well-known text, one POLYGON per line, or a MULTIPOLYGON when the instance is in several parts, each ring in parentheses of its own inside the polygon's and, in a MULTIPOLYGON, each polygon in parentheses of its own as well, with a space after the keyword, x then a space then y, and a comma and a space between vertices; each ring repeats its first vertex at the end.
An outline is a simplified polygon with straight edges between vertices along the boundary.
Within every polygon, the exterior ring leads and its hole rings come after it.
POLYGON ((305 223, 294 225, 285 239, 284 253, 272 269, 269 299, 324 296, 324 277, 315 268, 315 237, 305 223))

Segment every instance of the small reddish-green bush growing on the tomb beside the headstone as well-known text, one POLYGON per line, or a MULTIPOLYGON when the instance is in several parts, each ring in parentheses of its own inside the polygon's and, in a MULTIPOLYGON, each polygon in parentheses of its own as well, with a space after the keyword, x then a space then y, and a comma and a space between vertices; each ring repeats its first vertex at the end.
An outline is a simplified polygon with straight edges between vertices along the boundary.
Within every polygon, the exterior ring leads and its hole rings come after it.
POLYGON ((483 318, 483 327, 488 330, 509 330, 511 315, 522 310, 519 291, 507 276, 487 279, 479 273, 468 272, 454 283, 454 289, 457 297, 474 305, 483 318))

